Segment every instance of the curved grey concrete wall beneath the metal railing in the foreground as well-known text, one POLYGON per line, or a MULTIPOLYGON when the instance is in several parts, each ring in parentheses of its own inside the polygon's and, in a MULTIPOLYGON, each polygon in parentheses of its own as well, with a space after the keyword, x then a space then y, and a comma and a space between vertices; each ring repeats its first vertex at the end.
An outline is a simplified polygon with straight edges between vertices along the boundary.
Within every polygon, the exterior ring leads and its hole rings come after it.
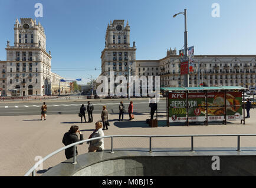
POLYGON ((77 156, 76 165, 67 160, 43 176, 256 176, 255 154, 256 149, 251 148, 243 152, 234 148, 104 151, 77 156), (212 169, 212 156, 219 156, 220 170, 212 169))

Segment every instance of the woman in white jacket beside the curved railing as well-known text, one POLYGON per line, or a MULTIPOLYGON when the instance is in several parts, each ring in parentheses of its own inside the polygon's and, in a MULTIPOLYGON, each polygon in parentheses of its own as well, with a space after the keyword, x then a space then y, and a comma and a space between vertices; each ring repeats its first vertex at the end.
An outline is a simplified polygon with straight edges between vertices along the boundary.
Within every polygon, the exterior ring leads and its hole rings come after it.
MULTIPOLYGON (((101 128, 102 128, 102 123, 96 122, 95 130, 93 131, 93 133, 91 133, 88 139, 105 136, 101 128)), ((90 142, 87 142, 87 143, 90 144, 90 146, 88 147, 88 152, 100 152, 104 150, 104 139, 91 140, 90 142)))

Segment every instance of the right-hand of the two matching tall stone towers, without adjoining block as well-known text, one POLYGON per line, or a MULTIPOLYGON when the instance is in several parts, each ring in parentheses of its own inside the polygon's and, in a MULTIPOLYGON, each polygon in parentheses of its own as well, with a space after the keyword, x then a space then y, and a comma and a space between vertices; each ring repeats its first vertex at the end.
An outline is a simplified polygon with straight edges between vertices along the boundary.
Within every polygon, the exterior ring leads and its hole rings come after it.
POLYGON ((101 52, 101 75, 114 76, 135 75, 136 71, 136 46, 130 46, 130 26, 123 19, 116 19, 107 25, 105 48, 101 52), (128 65, 129 63, 129 65, 128 65))

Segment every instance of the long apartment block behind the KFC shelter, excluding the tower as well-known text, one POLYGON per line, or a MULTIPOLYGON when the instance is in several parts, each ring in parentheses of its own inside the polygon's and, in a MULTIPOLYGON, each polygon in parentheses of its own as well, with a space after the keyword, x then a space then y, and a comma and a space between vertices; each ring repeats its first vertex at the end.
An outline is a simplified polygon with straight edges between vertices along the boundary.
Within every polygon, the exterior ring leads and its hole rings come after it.
MULTIPOLYGON (((195 55, 195 71, 189 74, 189 86, 243 86, 256 83, 256 55, 195 55)), ((183 85, 180 76, 179 56, 160 59, 160 85, 183 85)))

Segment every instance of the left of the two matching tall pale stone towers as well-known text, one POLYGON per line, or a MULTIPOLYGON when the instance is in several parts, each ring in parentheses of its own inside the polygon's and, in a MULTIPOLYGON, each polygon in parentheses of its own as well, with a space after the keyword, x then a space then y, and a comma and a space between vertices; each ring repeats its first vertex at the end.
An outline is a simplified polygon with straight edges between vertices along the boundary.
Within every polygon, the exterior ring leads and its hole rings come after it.
MULTIPOLYGON (((46 51, 44 28, 36 20, 16 19, 14 46, 6 45, 7 96, 51 95, 51 52, 46 51)), ((61 82, 61 85, 65 83, 61 82)), ((4 88, 3 88, 4 89, 4 88)), ((2 93, 3 94, 3 93, 2 93)))

